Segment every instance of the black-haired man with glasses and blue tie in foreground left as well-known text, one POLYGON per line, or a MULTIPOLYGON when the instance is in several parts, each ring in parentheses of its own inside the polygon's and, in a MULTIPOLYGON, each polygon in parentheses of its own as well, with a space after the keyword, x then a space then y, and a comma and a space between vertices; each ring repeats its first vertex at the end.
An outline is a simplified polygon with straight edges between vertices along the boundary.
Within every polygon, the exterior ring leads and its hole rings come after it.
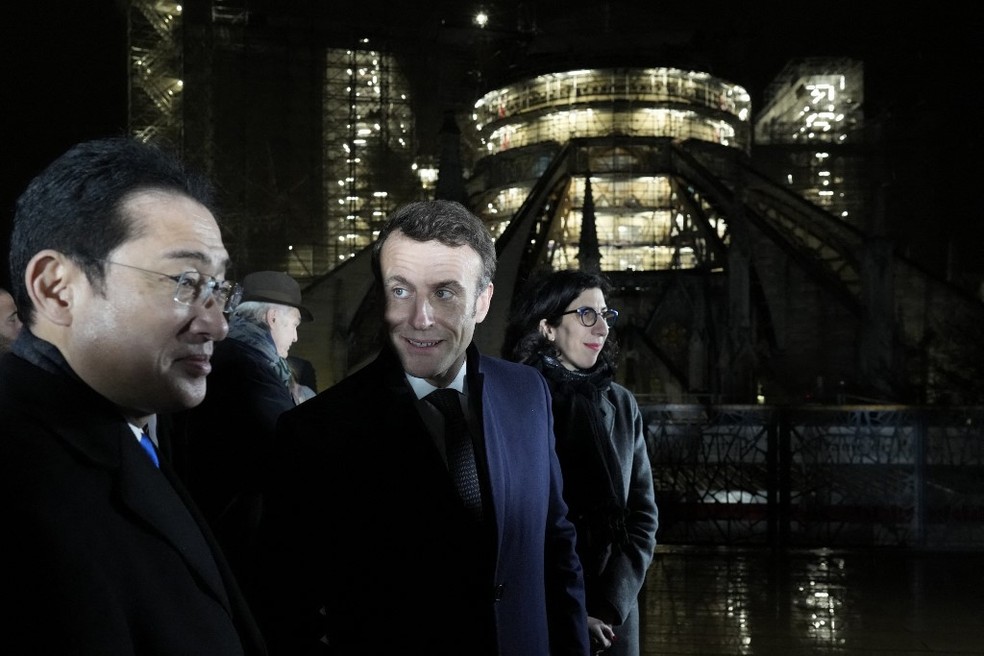
POLYGON ((4 653, 265 653, 154 439, 159 413, 204 398, 240 296, 210 205, 204 179, 127 138, 71 148, 17 201, 24 328, 0 359, 4 653))

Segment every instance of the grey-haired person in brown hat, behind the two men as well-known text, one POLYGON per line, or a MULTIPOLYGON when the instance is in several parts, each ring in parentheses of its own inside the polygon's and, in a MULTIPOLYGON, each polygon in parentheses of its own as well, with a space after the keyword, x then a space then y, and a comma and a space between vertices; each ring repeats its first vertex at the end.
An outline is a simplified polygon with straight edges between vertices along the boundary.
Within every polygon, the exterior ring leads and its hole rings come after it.
POLYGON ((280 413, 298 403, 287 356, 298 326, 314 316, 286 273, 256 271, 242 285, 229 335, 212 355, 205 400, 175 423, 185 437, 179 469, 248 592, 259 480, 280 413))

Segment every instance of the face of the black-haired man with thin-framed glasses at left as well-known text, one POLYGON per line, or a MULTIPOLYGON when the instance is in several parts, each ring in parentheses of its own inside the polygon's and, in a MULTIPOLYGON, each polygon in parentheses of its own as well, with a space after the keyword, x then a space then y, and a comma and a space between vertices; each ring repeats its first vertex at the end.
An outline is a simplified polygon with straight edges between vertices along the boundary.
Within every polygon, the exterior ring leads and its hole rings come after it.
MULTIPOLYGON (((107 260, 170 276, 225 276, 219 227, 199 203, 147 191, 130 197, 124 212, 134 237, 107 260)), ((71 326, 59 344, 69 365, 131 420, 201 403, 212 342, 229 330, 221 307, 176 302, 176 283, 164 275, 109 263, 105 273, 101 289, 75 280, 71 326)))

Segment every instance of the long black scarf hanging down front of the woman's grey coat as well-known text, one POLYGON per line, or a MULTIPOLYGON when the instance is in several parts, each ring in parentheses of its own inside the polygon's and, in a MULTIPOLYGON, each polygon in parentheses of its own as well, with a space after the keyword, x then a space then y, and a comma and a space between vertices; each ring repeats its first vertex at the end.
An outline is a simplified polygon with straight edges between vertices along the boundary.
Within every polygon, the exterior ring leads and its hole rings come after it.
POLYGON ((533 366, 550 386, 564 500, 577 528, 585 576, 593 577, 613 550, 628 543, 621 467, 601 416, 601 397, 611 386, 612 370, 598 363, 587 371, 571 371, 545 354, 533 366))

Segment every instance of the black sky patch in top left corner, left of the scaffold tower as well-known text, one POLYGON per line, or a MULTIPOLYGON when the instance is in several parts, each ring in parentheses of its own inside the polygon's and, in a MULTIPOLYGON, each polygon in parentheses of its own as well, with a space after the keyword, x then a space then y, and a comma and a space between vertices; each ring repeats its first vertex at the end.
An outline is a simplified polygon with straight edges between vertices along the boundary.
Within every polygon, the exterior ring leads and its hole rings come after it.
POLYGON ((12 2, 3 48, 2 284, 14 203, 72 144, 126 131, 126 24, 111 0, 12 2))

